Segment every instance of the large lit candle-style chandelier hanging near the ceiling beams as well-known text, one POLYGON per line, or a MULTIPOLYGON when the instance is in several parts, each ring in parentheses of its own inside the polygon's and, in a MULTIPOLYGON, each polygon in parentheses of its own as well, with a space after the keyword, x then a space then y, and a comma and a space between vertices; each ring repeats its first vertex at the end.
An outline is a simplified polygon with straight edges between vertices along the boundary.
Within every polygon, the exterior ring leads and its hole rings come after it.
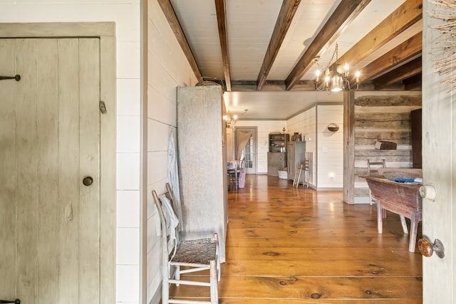
MULTIPOLYGON (((318 65, 319 57, 315 58, 314 61, 316 65, 318 65)), ((316 80, 315 80, 315 90, 318 91, 327 91, 328 94, 331 92, 337 92, 341 90, 358 90, 359 88, 359 76, 361 75, 360 72, 357 70, 355 73, 356 83, 355 87, 352 88, 350 85, 350 66, 348 63, 341 65, 338 62, 338 44, 336 43, 336 48, 334 49, 333 56, 328 63, 328 66, 325 68, 325 74, 323 79, 321 78, 321 70, 316 70, 316 80), (336 58, 334 60, 334 58, 336 58), (333 61, 334 60, 334 61, 333 61), (331 64, 332 63, 332 64, 331 64), (330 69, 332 65, 332 69, 330 69)))

